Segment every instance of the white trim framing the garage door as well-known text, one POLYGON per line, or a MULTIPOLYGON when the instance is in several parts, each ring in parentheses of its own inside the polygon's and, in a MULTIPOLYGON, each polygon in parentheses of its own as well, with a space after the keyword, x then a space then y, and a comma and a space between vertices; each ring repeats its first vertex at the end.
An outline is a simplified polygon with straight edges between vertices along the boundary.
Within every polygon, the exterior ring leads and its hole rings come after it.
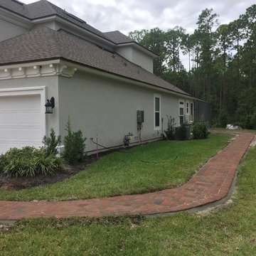
POLYGON ((46 86, 0 89, 0 97, 22 96, 22 95, 40 95, 41 97, 41 118, 43 122, 41 137, 43 139, 43 136, 46 135, 46 114, 45 114, 45 107, 44 107, 44 105, 46 104, 46 86))

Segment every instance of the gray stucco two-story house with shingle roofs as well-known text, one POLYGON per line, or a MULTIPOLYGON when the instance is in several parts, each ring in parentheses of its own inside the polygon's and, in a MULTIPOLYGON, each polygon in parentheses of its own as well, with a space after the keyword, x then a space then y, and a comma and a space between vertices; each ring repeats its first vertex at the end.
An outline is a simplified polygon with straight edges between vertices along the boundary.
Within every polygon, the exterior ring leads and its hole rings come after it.
POLYGON ((0 0, 0 153, 42 146, 53 128, 104 146, 161 138, 167 115, 193 119, 194 98, 153 74, 156 54, 119 31, 102 33, 49 1, 0 0), (46 102, 54 98, 52 114, 46 102))

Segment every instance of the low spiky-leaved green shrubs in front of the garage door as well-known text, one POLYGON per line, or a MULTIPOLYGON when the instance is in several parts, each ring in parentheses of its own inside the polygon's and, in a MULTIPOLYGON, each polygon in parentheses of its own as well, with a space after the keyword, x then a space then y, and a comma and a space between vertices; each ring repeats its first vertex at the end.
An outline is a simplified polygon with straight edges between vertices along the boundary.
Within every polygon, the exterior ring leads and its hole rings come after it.
POLYGON ((0 156, 0 169, 9 177, 53 174, 64 163, 63 159, 47 156, 46 149, 36 149, 33 146, 9 149, 0 156))

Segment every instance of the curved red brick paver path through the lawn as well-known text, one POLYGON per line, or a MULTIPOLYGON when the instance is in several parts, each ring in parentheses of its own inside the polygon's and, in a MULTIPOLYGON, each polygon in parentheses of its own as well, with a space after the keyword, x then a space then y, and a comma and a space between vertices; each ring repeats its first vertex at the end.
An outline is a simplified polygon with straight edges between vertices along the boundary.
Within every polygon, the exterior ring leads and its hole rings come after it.
POLYGON ((213 203, 227 195, 238 164, 253 137, 253 134, 241 132, 237 139, 210 159, 186 184, 178 188, 142 195, 80 201, 0 201, 0 220, 48 217, 50 215, 61 218, 72 215, 170 213, 213 203))

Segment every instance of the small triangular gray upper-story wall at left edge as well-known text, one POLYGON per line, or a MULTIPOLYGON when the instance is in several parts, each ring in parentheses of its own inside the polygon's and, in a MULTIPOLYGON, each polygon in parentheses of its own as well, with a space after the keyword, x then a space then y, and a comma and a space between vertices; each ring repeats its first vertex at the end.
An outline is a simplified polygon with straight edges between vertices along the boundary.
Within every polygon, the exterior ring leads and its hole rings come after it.
POLYGON ((26 28, 18 26, 14 23, 4 21, 0 18, 0 42, 14 36, 21 35, 22 33, 28 31, 26 28))

